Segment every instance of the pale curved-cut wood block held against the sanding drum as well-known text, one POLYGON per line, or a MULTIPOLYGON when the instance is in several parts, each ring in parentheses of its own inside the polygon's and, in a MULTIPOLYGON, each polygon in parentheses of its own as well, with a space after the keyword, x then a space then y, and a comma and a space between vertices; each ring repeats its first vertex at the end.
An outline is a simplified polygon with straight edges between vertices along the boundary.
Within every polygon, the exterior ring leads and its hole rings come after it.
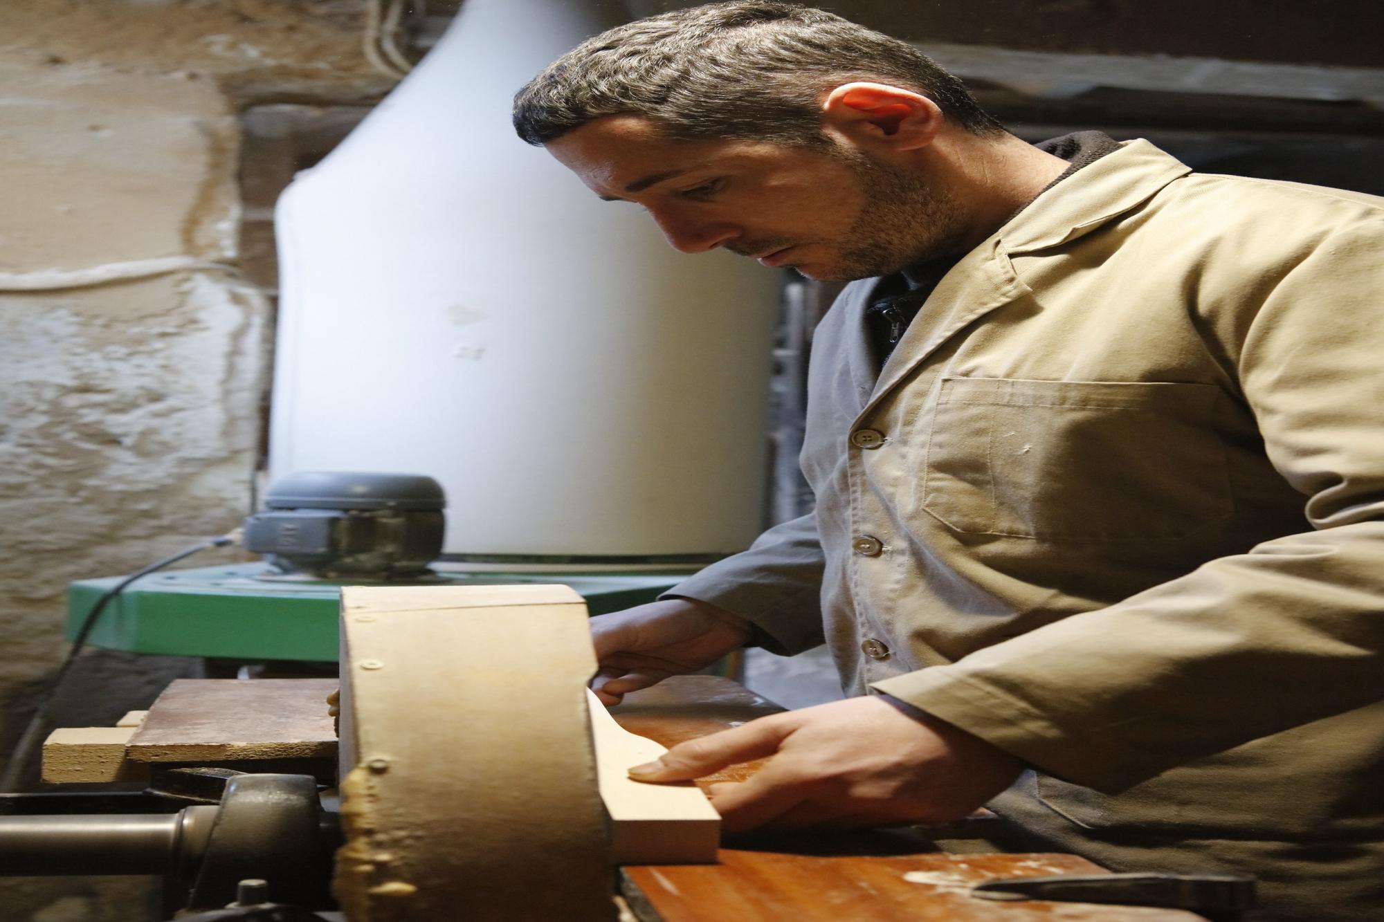
POLYGON ((721 815, 693 785, 650 785, 630 778, 631 766, 652 761, 666 746, 624 730, 590 689, 591 736, 601 800, 610 815, 616 864, 716 861, 721 815))

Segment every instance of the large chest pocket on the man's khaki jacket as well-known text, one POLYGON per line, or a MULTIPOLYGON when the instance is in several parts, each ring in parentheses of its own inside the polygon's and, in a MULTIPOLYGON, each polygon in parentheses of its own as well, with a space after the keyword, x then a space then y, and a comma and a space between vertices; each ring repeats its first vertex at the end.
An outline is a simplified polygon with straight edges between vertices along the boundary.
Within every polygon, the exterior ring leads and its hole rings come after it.
POLYGON ((1218 396, 1197 383, 945 378, 922 505, 972 534, 1187 537, 1232 511, 1218 396))

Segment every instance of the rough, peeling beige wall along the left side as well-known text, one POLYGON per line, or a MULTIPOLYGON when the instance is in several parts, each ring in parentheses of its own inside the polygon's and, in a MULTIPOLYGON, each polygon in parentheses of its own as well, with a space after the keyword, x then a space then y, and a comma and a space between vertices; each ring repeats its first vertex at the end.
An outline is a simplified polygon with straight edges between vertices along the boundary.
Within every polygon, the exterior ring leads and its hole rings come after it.
MULTIPOLYGON (((241 112, 376 100, 390 80, 364 61, 360 10, 0 4, 0 759, 66 652, 68 581, 220 534, 249 505, 273 317, 239 264, 241 112)), ((113 723, 185 669, 95 652, 57 716, 113 723)), ((148 893, 0 878, 0 916, 144 921, 148 893)))

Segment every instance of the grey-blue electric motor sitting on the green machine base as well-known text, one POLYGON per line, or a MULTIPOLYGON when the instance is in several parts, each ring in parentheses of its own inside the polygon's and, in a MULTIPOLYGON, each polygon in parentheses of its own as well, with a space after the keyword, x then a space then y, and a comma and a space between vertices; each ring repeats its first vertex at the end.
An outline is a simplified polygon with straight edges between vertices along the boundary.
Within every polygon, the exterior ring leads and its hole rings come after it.
POLYGON ((441 552, 446 505, 428 476, 300 471, 245 519, 245 550, 266 555, 270 577, 418 581, 441 552))

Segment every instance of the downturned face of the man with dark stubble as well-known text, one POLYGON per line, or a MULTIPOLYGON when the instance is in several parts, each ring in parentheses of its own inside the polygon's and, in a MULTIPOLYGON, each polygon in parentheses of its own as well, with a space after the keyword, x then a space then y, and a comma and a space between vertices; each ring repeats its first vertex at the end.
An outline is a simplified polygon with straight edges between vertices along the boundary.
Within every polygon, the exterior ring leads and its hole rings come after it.
POLYGON ((847 281, 949 253, 963 235, 947 190, 844 143, 668 141, 642 116, 610 115, 547 148, 597 195, 642 205, 688 253, 724 246, 847 281))

